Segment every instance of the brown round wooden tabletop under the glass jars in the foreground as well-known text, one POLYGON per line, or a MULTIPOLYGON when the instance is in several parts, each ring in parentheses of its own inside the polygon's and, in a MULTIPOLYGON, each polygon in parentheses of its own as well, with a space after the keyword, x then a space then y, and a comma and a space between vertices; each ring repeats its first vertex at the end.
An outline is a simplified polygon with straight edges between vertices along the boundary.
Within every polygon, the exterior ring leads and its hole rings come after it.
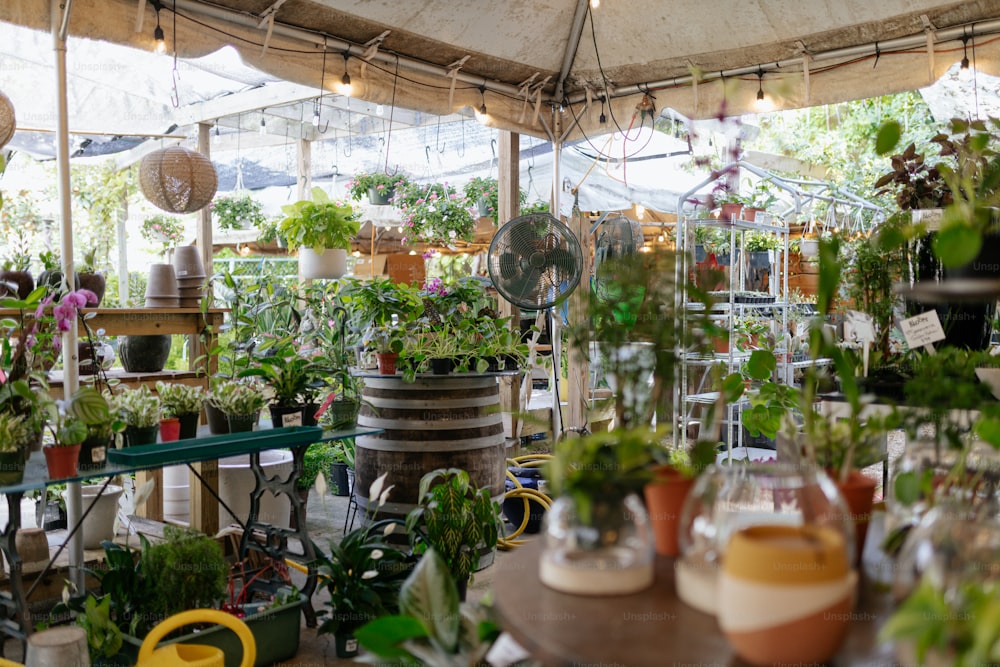
MULTIPOLYGON (((540 539, 497 561, 495 608, 500 625, 546 665, 742 667, 715 618, 681 602, 674 561, 658 556, 653 587, 634 595, 586 597, 547 588, 538 578, 540 539)), ((878 645, 890 599, 862 584, 847 641, 829 664, 891 667, 892 647, 878 645)))

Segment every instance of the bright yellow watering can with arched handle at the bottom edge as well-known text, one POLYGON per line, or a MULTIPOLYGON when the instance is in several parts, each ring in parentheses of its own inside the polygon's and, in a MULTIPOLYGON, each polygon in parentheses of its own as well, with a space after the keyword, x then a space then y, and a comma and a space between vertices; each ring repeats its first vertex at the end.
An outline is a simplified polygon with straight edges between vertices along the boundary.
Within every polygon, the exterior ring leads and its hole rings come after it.
POLYGON ((257 659, 257 644, 250 628, 232 614, 215 609, 191 609, 164 619, 146 635, 139 649, 136 667, 223 667, 226 656, 222 649, 214 646, 167 644, 156 648, 167 633, 192 623, 218 623, 235 632, 243 644, 243 661, 240 662, 240 667, 253 667, 257 659))

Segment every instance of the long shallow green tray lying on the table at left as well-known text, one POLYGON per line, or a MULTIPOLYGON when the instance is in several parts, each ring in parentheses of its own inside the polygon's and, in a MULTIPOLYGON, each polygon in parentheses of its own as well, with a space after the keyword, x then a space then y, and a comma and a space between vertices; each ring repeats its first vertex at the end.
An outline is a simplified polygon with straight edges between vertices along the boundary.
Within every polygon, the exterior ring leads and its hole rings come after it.
POLYGON ((323 429, 318 426, 289 426, 112 449, 108 452, 108 461, 133 468, 153 468, 210 461, 265 449, 298 447, 320 440, 323 440, 323 429))

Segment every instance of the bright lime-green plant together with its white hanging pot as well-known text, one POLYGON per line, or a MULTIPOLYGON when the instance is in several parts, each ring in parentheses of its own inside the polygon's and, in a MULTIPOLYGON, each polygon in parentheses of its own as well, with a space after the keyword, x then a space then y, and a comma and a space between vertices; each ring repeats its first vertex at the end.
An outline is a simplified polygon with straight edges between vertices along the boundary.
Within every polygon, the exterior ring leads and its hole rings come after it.
POLYGON ((347 251, 361 228, 349 204, 330 199, 320 187, 312 199, 281 207, 285 217, 278 232, 288 247, 299 250, 302 275, 306 278, 339 278, 347 271, 347 251))

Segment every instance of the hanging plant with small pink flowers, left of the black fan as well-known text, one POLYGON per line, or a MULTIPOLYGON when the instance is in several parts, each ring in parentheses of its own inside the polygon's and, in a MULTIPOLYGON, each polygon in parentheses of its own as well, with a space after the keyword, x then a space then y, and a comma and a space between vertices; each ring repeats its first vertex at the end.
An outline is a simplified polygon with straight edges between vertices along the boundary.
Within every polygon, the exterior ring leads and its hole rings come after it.
POLYGON ((475 237, 475 218, 447 183, 408 185, 396 191, 395 204, 403 212, 403 243, 452 246, 475 237))

